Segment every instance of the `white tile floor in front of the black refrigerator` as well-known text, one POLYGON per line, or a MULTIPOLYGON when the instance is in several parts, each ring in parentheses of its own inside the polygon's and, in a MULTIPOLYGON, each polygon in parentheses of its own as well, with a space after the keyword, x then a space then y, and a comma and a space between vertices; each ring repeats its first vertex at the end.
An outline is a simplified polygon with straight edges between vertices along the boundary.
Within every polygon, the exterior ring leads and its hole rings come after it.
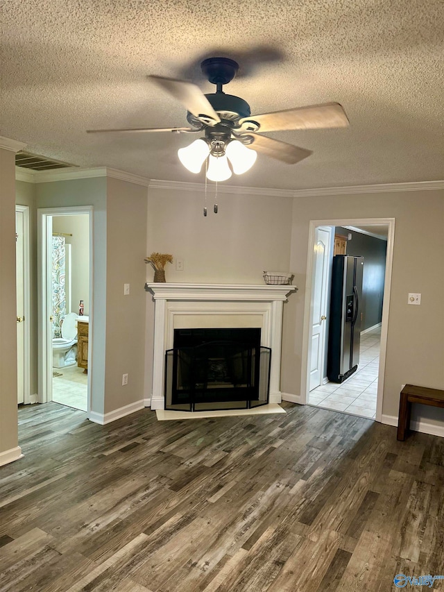
POLYGON ((374 419, 381 328, 361 335, 357 371, 341 384, 327 382, 309 394, 309 405, 374 419))

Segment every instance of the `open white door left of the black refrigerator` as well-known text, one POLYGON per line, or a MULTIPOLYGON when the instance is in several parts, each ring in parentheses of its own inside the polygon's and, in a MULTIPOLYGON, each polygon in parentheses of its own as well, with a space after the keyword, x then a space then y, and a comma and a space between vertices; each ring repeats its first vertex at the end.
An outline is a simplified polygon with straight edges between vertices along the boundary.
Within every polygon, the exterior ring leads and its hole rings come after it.
POLYGON ((311 289, 311 351, 309 390, 321 386, 325 363, 328 282, 330 278, 331 226, 318 226, 314 235, 313 284, 311 289))

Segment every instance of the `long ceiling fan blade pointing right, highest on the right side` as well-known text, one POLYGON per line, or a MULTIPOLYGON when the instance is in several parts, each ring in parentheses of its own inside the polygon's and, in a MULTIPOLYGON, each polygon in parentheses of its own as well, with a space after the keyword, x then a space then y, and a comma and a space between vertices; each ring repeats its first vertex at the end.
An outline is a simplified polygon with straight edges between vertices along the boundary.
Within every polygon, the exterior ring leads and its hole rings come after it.
POLYGON ((263 115, 251 115, 239 121, 242 133, 248 131, 248 122, 253 121, 251 131, 273 132, 280 130, 312 130, 318 128, 341 128, 350 124, 339 103, 311 105, 263 115), (259 128, 254 124, 259 124, 259 128))

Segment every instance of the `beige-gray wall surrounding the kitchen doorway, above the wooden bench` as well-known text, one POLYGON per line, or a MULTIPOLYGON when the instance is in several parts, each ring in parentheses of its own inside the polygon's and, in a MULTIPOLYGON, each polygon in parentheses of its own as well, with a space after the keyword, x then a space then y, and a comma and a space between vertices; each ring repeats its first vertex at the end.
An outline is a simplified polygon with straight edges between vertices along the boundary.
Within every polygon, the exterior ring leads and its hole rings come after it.
MULTIPOLYGON (((395 218, 384 403, 397 417, 401 384, 444 388, 444 191, 388 192, 295 198, 291 269, 298 292, 284 305, 282 391, 300 394, 310 220, 395 218), (407 294, 422 293, 421 306, 407 294)), ((420 407, 430 423, 444 422, 443 409, 420 407)))

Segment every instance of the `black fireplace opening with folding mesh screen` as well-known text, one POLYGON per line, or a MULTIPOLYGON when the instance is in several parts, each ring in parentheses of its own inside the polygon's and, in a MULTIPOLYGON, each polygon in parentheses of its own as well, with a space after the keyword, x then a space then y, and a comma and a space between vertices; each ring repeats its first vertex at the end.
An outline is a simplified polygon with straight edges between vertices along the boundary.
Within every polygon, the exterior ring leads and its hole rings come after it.
POLYGON ((165 357, 165 409, 250 409, 268 403, 271 349, 260 328, 174 330, 165 357))

